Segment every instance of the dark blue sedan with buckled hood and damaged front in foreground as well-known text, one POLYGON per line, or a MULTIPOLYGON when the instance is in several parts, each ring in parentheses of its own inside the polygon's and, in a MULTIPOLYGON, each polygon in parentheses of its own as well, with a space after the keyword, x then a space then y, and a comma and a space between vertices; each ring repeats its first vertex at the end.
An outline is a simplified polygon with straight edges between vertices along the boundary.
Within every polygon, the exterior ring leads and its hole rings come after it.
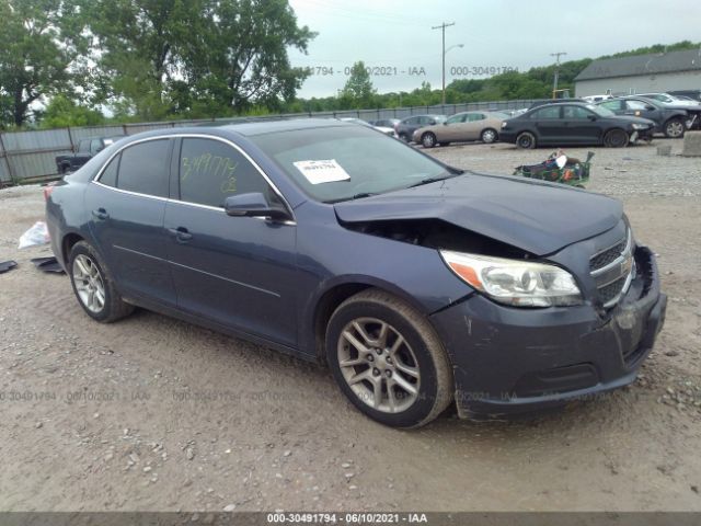
POLYGON ((392 426, 624 386, 665 318, 620 202, 463 172, 364 126, 148 132, 49 188, 89 317, 141 306, 326 362, 392 426))

